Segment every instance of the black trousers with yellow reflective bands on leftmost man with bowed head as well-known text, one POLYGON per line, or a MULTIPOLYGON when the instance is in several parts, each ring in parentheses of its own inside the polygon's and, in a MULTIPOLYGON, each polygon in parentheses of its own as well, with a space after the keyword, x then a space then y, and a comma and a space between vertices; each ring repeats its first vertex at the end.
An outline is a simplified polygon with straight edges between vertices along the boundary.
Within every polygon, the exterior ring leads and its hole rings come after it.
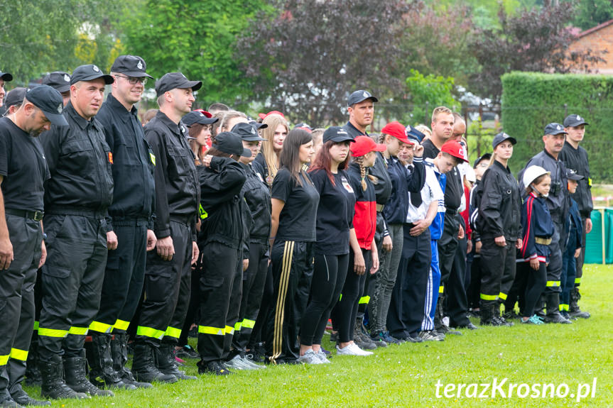
POLYGON ((13 261, 0 270, 0 393, 21 383, 34 326, 34 282, 43 232, 40 221, 6 214, 13 261), (6 372, 5 372, 6 368, 6 372))

